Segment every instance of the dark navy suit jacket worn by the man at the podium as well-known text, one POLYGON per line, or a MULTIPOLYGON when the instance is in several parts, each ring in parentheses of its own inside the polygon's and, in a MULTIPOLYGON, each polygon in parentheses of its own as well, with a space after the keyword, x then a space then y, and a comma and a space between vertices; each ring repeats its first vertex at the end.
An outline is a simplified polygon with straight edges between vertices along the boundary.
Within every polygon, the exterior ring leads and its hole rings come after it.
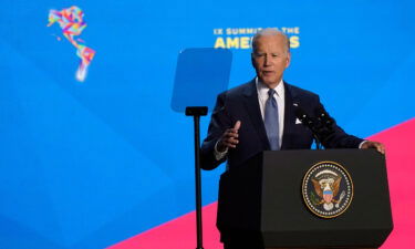
MULTIPOLYGON (((317 94, 295 87, 284 82, 286 110, 281 149, 309 149, 313 136, 303 124, 295 124, 293 104, 297 103, 308 114, 323 107, 317 94)), ((363 139, 347 135, 336 124, 333 133, 324 141, 326 148, 357 148, 363 139)), ((270 145, 262 121, 258 92, 255 80, 231 89, 218 95, 216 107, 211 114, 208 136, 201 145, 201 168, 212 169, 228 159, 228 167, 237 167, 262 151, 269 151, 270 145), (241 121, 239 144, 230 148, 227 157, 217 160, 214 155, 215 144, 227 128, 241 121)))

